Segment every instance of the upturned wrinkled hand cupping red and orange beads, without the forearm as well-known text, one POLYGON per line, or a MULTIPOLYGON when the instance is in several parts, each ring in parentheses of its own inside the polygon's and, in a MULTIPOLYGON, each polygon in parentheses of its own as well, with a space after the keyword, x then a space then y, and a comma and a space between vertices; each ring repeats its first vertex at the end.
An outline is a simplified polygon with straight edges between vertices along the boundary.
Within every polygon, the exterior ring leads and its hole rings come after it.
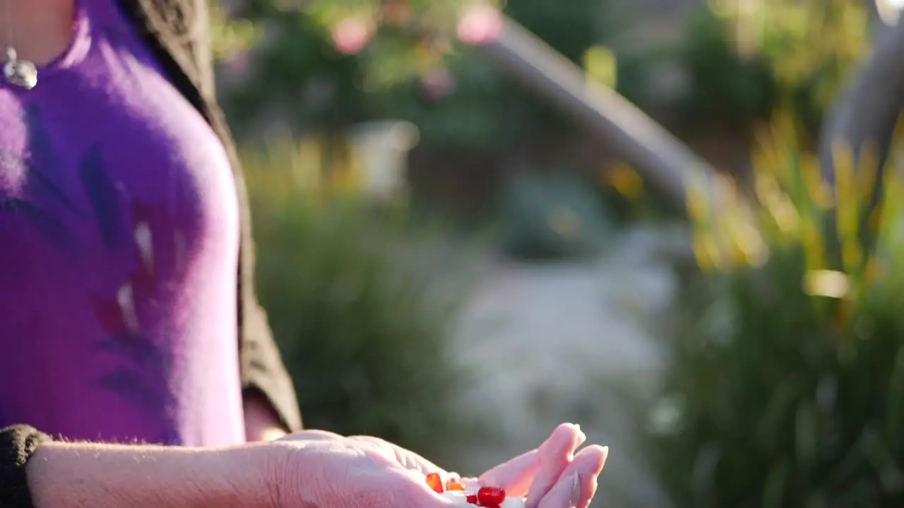
MULTIPOLYGON (((571 424, 521 456, 465 484, 503 487, 527 496, 526 508, 586 508, 597 491, 607 448, 584 447, 586 437, 571 424), (579 451, 578 451, 579 450, 579 451)), ((286 460, 278 468, 278 508, 447 508, 454 503, 428 487, 425 477, 457 477, 427 459, 377 437, 341 437, 308 430, 279 439, 286 460)))

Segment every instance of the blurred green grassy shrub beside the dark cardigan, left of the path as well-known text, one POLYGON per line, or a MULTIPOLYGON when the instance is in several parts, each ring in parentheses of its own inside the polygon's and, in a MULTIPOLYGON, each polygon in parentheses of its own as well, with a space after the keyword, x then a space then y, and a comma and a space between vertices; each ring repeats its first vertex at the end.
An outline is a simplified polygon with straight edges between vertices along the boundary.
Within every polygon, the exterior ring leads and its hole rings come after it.
POLYGON ((442 449, 467 429, 448 403, 469 375, 448 354, 464 287, 447 281, 461 272, 431 266, 432 235, 399 214, 303 185, 320 168, 294 149, 245 155, 259 296, 306 426, 442 449))

